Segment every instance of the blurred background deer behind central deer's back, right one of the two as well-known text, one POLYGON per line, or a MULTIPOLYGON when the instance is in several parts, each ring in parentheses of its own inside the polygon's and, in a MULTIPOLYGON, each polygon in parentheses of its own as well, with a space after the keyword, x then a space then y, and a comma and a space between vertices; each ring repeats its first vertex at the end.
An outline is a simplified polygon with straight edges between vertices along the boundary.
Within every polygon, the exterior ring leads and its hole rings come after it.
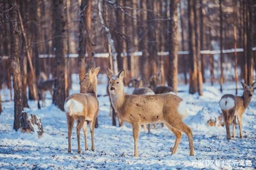
POLYGON ((151 88, 155 94, 164 94, 164 93, 174 92, 173 88, 170 86, 157 86, 159 77, 160 77, 160 73, 159 74, 154 73, 150 77, 149 88, 151 88))

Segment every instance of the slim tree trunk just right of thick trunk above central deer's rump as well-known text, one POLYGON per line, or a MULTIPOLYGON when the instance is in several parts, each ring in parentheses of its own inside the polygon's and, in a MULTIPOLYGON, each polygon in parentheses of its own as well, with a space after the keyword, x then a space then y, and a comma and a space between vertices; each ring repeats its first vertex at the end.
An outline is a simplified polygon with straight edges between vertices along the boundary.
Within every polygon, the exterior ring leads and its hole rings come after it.
MULTIPOLYGON (((180 29, 181 29, 181 49, 182 51, 185 51, 185 40, 184 40, 184 21, 183 21, 183 10, 182 10, 182 4, 180 1, 180 29)), ((182 56, 182 63, 183 63, 183 74, 184 74, 184 80, 185 84, 188 84, 188 78, 187 78, 187 57, 186 55, 182 56)))

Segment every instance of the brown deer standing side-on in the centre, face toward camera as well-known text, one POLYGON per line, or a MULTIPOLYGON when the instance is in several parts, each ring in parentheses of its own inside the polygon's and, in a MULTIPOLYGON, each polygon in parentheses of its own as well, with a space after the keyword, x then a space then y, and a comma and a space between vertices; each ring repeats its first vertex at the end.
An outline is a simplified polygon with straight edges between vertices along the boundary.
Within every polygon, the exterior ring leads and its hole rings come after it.
POLYGON ((174 94, 126 95, 123 83, 125 71, 114 75, 108 69, 107 74, 112 105, 122 121, 132 124, 134 156, 138 156, 140 125, 158 122, 164 122, 176 136, 172 154, 176 153, 184 132, 188 136, 190 155, 194 155, 192 130, 182 120, 186 115, 186 102, 174 94))

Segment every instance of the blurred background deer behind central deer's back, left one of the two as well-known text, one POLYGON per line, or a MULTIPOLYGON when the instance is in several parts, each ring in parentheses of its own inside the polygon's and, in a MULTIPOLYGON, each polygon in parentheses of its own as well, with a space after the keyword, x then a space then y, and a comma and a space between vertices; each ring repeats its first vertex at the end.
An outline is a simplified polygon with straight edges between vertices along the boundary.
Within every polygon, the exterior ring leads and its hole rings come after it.
MULTIPOLYGON (((133 78, 129 82, 130 87, 134 87, 132 94, 155 94, 153 90, 148 87, 143 87, 142 80, 138 80, 137 78, 133 78)), ((156 124, 154 123, 154 128, 156 128, 156 124)), ((144 131, 146 132, 146 125, 142 125, 144 131)), ((148 124, 148 133, 150 133, 150 124, 148 124)))

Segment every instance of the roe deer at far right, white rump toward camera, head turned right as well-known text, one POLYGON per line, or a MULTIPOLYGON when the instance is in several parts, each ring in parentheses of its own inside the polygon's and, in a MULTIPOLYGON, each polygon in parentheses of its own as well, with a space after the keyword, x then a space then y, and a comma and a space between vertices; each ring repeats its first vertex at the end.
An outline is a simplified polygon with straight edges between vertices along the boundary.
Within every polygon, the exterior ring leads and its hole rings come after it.
POLYGON ((232 137, 236 136, 236 118, 238 119, 238 125, 240 130, 240 138, 243 137, 242 133, 242 115, 245 109, 250 104, 252 100, 252 94, 254 91, 254 86, 256 82, 251 85, 246 85, 241 82, 244 93, 242 96, 234 96, 232 94, 225 94, 220 99, 220 108, 222 110, 222 115, 224 118, 224 122, 226 125, 226 137, 228 140, 231 139, 230 137, 230 125, 233 123, 233 135, 232 137))

